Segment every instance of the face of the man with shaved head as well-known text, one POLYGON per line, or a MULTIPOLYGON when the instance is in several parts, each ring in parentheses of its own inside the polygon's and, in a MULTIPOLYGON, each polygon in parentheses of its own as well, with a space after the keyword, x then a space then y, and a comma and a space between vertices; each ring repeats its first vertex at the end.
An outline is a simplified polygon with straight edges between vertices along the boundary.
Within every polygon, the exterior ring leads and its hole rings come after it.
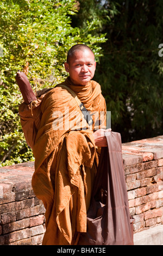
POLYGON ((70 62, 65 63, 65 70, 69 73, 74 84, 85 86, 95 74, 94 54, 87 49, 76 51, 70 62))

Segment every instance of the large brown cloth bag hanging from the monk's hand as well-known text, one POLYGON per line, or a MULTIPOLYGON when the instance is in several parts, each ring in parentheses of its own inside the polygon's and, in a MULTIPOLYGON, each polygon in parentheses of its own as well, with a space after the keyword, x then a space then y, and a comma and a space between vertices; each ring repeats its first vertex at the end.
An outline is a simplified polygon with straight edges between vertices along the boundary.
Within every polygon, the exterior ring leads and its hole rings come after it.
POLYGON ((121 135, 105 133, 92 201, 87 211, 87 232, 78 245, 133 245, 133 218, 129 214, 124 179, 121 135))

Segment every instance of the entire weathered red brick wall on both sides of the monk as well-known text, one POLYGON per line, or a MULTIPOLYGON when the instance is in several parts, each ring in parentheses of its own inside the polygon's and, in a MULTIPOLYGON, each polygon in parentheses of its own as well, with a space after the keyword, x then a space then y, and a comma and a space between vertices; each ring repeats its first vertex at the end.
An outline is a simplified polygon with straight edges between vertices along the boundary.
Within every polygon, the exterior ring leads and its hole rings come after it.
MULTIPOLYGON (((163 224, 163 136, 122 144, 134 232, 163 224)), ((0 168, 0 245, 41 245, 45 209, 33 193, 34 163, 0 168)))

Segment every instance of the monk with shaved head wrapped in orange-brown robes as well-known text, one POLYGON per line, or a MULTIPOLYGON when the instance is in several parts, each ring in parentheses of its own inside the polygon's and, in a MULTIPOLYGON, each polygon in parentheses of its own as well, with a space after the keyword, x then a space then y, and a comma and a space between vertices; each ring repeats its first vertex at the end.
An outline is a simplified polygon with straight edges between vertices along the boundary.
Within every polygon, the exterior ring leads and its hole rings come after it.
POLYGON ((86 232, 100 147, 107 145, 106 104, 101 86, 92 80, 92 50, 74 45, 65 70, 69 76, 64 82, 36 95, 31 92, 30 102, 19 106, 24 136, 35 157, 33 190, 46 209, 42 245, 77 245, 86 232))

